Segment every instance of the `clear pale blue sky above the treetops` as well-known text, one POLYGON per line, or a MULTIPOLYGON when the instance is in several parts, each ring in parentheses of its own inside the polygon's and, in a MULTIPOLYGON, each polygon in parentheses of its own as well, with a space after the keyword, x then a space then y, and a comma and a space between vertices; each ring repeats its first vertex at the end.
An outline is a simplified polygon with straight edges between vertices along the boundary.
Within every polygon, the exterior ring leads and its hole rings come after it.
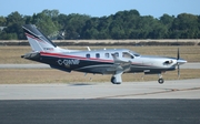
POLYGON ((32 16, 44 9, 56 9, 64 14, 103 17, 118 11, 136 9, 140 16, 160 18, 164 13, 200 16, 199 6, 200 0, 0 0, 0 16, 7 17, 14 11, 22 16, 32 16))

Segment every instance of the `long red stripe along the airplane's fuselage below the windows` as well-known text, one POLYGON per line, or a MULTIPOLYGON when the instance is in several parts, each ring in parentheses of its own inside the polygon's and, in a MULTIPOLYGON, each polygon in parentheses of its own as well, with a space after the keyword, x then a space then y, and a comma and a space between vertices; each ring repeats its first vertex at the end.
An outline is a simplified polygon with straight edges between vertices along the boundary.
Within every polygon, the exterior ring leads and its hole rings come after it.
POLYGON ((57 58, 63 58, 63 59, 90 60, 90 61, 99 61, 99 62, 113 62, 113 60, 102 60, 102 59, 96 59, 96 58, 88 59, 83 56, 66 55, 66 54, 60 54, 60 53, 40 52, 40 55, 57 56, 57 58))

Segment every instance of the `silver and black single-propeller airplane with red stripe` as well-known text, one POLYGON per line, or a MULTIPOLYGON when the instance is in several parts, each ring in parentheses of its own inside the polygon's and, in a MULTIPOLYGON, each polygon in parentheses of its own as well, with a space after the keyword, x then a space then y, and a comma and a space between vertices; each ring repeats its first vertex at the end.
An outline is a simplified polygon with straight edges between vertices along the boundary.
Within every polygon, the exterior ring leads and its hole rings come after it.
POLYGON ((93 74, 112 74, 111 83, 121 84, 123 73, 158 74, 162 84, 162 73, 178 69, 187 63, 177 58, 140 55, 128 49, 69 50, 56 45, 34 24, 22 25, 32 52, 21 55, 23 59, 49 64, 52 69, 66 72, 78 71, 93 74))

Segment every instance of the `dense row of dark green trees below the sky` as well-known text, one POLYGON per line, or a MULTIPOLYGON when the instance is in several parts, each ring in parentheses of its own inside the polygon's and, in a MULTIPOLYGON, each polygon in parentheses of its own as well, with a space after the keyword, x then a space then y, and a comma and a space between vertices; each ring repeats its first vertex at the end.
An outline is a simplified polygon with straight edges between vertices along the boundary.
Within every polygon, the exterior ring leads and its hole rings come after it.
POLYGON ((0 40, 24 40, 23 24, 36 24, 50 39, 200 39, 200 16, 164 13, 159 19, 140 16, 139 11, 119 11, 108 17, 63 14, 58 10, 43 10, 33 16, 18 11, 0 17, 0 40))

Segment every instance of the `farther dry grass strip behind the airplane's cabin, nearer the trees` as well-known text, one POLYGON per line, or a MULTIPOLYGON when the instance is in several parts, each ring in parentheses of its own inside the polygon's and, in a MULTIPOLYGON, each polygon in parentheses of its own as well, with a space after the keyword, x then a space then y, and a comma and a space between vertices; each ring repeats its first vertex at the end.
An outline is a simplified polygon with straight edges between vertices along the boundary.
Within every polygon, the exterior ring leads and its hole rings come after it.
MULTIPOLYGON (((180 56, 188 62, 200 62, 200 46, 90 46, 91 50, 97 49, 129 49, 144 55, 163 55, 177 58, 177 49, 180 48, 180 56)), ((68 49, 87 50, 84 46, 68 46, 68 49)), ((30 46, 0 46, 0 64, 24 64, 37 63, 20 56, 30 52, 30 46)))

